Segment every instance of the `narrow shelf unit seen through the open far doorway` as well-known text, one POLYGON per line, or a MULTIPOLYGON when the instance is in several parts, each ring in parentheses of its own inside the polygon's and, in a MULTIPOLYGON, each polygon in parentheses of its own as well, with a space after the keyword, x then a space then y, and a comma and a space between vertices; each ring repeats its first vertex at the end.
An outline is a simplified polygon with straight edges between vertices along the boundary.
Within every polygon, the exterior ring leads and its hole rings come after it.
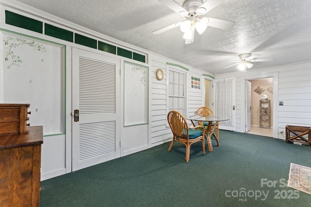
POLYGON ((259 100, 259 127, 271 127, 271 104, 269 99, 259 100))

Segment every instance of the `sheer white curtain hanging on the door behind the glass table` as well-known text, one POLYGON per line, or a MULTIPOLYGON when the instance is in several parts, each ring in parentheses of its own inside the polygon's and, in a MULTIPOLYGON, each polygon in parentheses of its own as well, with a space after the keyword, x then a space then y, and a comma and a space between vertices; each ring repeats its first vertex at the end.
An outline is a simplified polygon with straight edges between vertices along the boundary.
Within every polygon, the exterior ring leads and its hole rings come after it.
POLYGON ((233 79, 216 80, 215 84, 214 114, 221 117, 230 117, 227 121, 220 122, 220 125, 231 127, 232 124, 232 90, 233 79))

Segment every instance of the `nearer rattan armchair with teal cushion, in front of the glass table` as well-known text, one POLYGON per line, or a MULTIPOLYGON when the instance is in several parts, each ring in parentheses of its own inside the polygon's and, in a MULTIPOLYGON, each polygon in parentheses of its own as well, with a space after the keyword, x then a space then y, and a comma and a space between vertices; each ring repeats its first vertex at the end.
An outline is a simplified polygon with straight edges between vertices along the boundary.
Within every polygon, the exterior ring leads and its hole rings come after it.
POLYGON ((204 127, 188 127, 186 119, 178 111, 170 111, 167 114, 167 120, 173 132, 173 140, 169 147, 171 151, 174 141, 185 144, 186 146, 186 161, 190 159, 190 147, 193 143, 202 142, 203 155, 205 155, 205 131, 204 127), (200 129, 200 130, 196 130, 200 129))

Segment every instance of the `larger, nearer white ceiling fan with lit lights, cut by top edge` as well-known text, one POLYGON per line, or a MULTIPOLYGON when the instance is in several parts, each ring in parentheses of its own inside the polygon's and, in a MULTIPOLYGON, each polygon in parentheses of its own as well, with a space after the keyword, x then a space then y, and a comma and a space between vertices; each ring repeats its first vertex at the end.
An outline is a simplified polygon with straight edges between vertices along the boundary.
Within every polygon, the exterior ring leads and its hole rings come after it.
POLYGON ((206 14, 208 11, 215 8, 225 0, 206 0, 204 3, 203 0, 185 0, 182 6, 174 0, 158 1, 171 8, 179 15, 185 16, 186 20, 179 21, 161 29, 155 30, 153 33, 159 34, 180 26, 180 30, 184 32, 183 38, 186 39, 186 44, 193 42, 195 30, 199 34, 202 34, 206 30, 207 26, 219 28, 222 30, 229 30, 235 24, 233 21, 211 17, 203 17, 201 19, 198 18, 200 15, 206 14))

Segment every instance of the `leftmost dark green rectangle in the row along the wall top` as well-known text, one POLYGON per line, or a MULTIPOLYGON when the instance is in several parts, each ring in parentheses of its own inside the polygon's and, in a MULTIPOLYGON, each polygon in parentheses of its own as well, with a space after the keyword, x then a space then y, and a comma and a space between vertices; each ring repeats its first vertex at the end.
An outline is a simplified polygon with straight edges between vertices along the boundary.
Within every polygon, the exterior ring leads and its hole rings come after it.
POLYGON ((5 10, 5 23, 34 32, 42 33, 43 23, 41 21, 26 16, 21 16, 7 10, 5 10))

